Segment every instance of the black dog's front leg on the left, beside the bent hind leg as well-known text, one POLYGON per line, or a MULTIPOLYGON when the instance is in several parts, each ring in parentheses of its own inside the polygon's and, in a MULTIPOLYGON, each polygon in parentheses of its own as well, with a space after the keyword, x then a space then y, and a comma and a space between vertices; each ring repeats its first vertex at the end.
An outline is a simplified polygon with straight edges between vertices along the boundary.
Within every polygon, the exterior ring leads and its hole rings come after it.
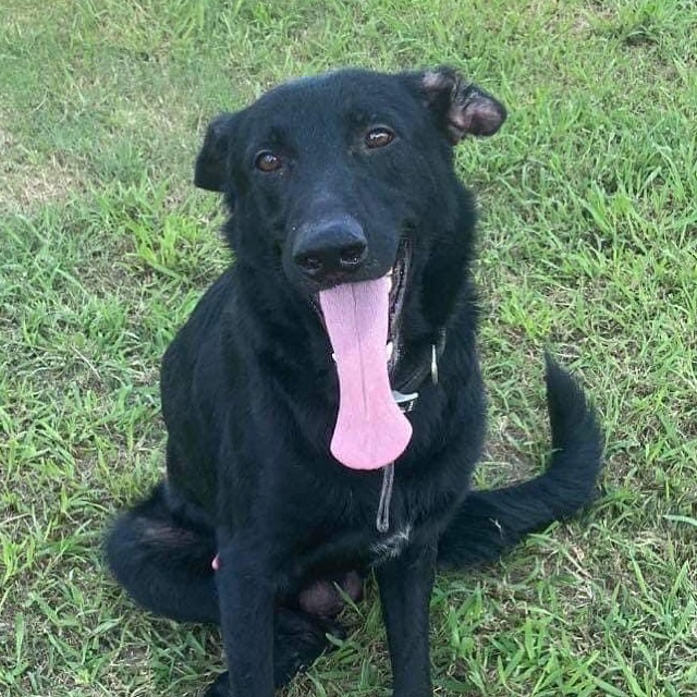
POLYGON ((272 697, 274 576, 264 546, 236 537, 220 546, 216 573, 229 694, 272 697))

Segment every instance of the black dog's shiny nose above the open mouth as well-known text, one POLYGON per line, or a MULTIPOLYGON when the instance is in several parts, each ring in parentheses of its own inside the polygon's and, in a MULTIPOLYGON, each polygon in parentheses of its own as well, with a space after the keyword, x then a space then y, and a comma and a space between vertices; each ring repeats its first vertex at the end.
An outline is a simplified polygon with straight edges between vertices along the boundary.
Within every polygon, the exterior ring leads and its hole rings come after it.
POLYGON ((368 242, 353 218, 301 225, 293 243, 293 261, 315 281, 347 280, 367 256, 368 242))

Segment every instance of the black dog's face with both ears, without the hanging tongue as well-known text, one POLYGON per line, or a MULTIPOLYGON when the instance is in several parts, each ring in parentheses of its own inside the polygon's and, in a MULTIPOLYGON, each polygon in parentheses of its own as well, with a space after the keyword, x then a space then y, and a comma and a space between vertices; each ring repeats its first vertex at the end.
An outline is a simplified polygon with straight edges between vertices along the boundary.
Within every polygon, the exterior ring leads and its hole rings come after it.
POLYGON ((404 265, 401 243, 439 206, 451 146, 504 118, 450 69, 327 73, 219 115, 195 183, 225 194, 240 259, 314 295, 404 265))

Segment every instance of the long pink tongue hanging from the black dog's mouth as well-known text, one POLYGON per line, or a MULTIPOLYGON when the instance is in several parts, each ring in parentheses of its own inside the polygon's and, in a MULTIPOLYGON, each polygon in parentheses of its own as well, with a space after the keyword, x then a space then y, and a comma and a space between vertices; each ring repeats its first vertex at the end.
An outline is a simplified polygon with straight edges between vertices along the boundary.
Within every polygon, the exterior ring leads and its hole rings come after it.
POLYGON ((394 403, 388 376, 389 296, 387 278, 344 283, 319 294, 339 372, 339 415, 330 450, 352 469, 393 462, 412 438, 412 425, 394 403))

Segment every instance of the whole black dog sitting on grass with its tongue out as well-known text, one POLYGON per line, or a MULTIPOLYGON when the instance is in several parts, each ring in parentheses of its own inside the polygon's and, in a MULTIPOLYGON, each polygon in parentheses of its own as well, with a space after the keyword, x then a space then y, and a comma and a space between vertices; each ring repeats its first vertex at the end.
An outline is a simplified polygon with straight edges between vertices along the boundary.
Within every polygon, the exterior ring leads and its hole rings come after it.
POLYGON ((210 124, 195 183, 224 195, 235 264, 164 357, 167 479, 107 542, 136 601, 221 625, 209 695, 270 697, 370 567, 394 694, 430 695, 437 565, 494 559, 592 499, 600 432, 549 359, 548 470, 469 489, 485 399, 452 146, 504 119, 439 69, 298 80, 210 124))

